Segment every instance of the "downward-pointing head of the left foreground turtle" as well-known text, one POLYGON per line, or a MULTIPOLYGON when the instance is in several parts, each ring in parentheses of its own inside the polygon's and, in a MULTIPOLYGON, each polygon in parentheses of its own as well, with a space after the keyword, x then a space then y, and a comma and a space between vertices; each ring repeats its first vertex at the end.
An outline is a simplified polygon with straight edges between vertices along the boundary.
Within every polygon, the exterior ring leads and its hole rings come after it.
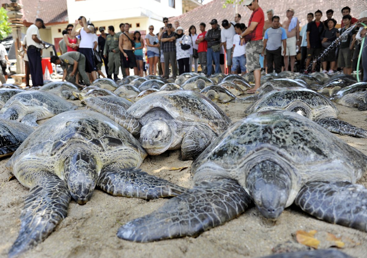
POLYGON ((64 176, 72 198, 83 205, 89 201, 97 184, 97 162, 91 153, 74 152, 65 160, 64 176))

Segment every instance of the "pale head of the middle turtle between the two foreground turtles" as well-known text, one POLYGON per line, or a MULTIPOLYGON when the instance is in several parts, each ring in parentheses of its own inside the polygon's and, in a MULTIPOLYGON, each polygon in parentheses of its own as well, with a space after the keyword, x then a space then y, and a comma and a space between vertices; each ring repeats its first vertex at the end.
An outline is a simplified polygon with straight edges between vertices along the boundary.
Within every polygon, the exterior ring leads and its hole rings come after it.
POLYGON ((165 120, 153 120, 140 131, 140 143, 150 155, 165 152, 171 145, 172 131, 165 120))

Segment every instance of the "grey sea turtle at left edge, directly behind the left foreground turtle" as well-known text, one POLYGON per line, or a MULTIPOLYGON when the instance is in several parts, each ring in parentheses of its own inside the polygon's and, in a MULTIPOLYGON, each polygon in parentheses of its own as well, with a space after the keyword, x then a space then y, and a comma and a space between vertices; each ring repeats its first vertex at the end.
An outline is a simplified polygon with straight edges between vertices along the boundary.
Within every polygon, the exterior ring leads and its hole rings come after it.
POLYGON ((47 91, 23 91, 12 96, 1 108, 0 118, 36 127, 37 120, 74 110, 75 105, 47 91))

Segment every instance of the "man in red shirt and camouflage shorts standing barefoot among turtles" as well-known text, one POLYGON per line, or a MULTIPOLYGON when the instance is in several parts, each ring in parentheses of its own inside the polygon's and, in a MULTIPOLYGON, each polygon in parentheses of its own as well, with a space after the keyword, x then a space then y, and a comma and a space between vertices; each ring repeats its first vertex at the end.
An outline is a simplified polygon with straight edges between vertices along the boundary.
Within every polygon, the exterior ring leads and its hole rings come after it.
POLYGON ((252 11, 247 29, 240 35, 241 44, 246 43, 247 71, 254 71, 255 87, 247 93, 255 93, 260 87, 261 66, 260 55, 263 49, 262 31, 264 30, 264 12, 259 7, 258 0, 245 0, 244 5, 252 11))

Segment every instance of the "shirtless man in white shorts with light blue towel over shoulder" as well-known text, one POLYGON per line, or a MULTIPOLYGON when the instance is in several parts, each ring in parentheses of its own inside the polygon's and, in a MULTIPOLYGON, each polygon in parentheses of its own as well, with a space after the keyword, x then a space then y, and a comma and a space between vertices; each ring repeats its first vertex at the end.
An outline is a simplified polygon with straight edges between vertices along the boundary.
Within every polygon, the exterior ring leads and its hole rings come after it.
MULTIPOLYGON (((288 71, 288 56, 291 57, 291 71, 294 71, 294 63, 297 55, 297 48, 301 45, 301 41, 299 41, 299 22, 298 18, 294 17, 294 9, 289 8, 287 10, 287 19, 283 22, 283 28, 287 31, 287 50, 286 55, 284 56, 284 66, 286 67, 286 71, 288 71)), ((283 47, 283 45, 282 45, 283 47)), ((283 53, 283 50, 281 52, 283 53)), ((283 55, 283 54, 282 54, 283 55)))

